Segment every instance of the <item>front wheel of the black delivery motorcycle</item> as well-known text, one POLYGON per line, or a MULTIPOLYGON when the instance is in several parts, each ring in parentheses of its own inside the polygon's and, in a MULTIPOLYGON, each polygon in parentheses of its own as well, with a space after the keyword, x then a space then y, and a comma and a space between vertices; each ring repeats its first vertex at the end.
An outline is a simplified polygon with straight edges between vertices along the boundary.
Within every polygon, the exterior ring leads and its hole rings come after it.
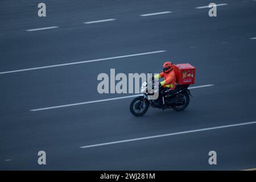
POLYGON ((136 117, 144 115, 148 110, 149 104, 147 100, 143 100, 142 96, 134 98, 130 104, 130 111, 131 114, 135 115, 136 117))

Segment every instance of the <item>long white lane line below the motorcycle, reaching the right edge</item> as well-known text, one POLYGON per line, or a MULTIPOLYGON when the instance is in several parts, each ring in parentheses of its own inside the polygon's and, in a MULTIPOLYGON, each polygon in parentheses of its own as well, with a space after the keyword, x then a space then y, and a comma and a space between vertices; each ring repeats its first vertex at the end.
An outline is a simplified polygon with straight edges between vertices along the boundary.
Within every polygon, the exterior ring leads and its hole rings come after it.
POLYGON ((127 140, 119 140, 115 142, 106 142, 106 143, 98 143, 98 144, 91 144, 88 146, 81 146, 80 148, 91 148, 91 147, 98 147, 98 146, 105 146, 109 144, 117 144, 117 143, 125 143, 125 142, 134 142, 137 140, 146 140, 146 139, 152 139, 152 138, 160 138, 160 137, 168 137, 172 135, 181 135, 181 134, 187 134, 187 133, 196 133, 200 131, 208 131, 208 130, 216 130, 216 129, 223 129, 226 127, 236 127, 236 126, 243 126, 243 125, 252 125, 255 124, 256 121, 253 122, 246 122, 246 123, 237 123, 234 125, 223 125, 223 126, 216 126, 216 127, 207 127, 204 129, 197 129, 197 130, 188 130, 188 131, 181 131, 181 132, 176 132, 176 133, 168 133, 168 134, 163 134, 163 135, 153 135, 150 137, 142 137, 142 138, 133 138, 133 139, 127 139, 127 140))

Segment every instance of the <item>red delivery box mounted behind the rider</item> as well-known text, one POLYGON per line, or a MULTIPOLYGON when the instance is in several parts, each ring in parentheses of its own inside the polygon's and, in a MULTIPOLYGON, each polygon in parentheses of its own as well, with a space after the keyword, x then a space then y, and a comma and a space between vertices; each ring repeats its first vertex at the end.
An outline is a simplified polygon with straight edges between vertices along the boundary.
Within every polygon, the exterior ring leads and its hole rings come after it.
POLYGON ((196 68, 191 64, 174 64, 173 65, 176 82, 179 85, 195 84, 196 68))

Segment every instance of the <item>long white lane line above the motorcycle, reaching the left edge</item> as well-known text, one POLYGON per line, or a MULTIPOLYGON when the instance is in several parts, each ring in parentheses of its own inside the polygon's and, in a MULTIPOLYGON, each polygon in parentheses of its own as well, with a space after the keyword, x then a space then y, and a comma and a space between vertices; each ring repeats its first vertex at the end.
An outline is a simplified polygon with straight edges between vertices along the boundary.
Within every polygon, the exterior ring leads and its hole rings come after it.
POLYGON ((73 64, 82 64, 82 63, 91 63, 91 62, 96 62, 96 61, 105 61, 105 60, 111 60, 111 59, 119 59, 119 58, 124 58, 124 57, 133 57, 133 56, 150 55, 150 54, 152 54, 152 53, 160 53, 160 52, 166 52, 166 51, 143 52, 143 53, 135 53, 135 54, 133 54, 133 55, 106 57, 106 58, 94 59, 94 60, 88 60, 88 61, 78 61, 78 62, 73 62, 73 63, 49 65, 49 66, 45 66, 45 67, 36 67, 36 68, 27 68, 27 69, 17 69, 17 70, 13 70, 13 71, 0 72, 0 75, 1 75, 1 74, 6 74, 6 73, 15 73, 15 72, 31 71, 31 70, 35 70, 35 69, 45 69, 45 68, 53 68, 53 67, 63 67, 63 66, 73 65, 73 64))

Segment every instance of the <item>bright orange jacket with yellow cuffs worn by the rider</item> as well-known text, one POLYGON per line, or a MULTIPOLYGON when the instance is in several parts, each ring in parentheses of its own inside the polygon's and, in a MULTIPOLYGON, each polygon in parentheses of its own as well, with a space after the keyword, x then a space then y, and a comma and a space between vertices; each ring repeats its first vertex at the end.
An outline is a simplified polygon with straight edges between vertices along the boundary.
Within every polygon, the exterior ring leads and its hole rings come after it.
POLYGON ((159 73, 159 75, 156 75, 155 77, 157 78, 162 78, 164 77, 164 81, 161 81, 160 84, 164 87, 170 88, 171 90, 175 89, 175 82, 176 82, 176 76, 174 69, 172 69, 168 73, 159 73))

